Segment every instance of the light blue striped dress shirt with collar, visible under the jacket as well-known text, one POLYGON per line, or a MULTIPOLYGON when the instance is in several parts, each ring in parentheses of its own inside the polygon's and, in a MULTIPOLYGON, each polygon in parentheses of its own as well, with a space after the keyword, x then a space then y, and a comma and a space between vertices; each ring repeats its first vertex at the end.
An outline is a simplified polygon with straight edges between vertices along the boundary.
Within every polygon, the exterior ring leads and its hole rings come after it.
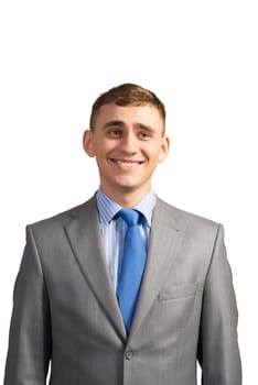
MULTIPOLYGON (((125 234, 127 231, 127 223, 122 218, 114 219, 116 213, 122 209, 121 206, 108 198, 101 190, 98 189, 96 194, 97 208, 100 219, 100 229, 103 234, 104 248, 106 251, 107 264, 110 274, 110 279, 115 292, 117 290, 117 280, 119 276, 125 234)), ((140 211, 143 216, 140 231, 146 242, 148 250, 152 211, 157 202, 157 197, 153 190, 150 190, 143 199, 141 199, 133 209, 140 211)))

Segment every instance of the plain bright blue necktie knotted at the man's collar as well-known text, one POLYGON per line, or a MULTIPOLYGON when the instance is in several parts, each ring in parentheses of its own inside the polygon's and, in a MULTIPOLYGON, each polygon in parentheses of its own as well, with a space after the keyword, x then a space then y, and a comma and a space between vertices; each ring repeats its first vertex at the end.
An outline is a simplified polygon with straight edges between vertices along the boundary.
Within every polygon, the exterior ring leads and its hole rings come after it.
POLYGON ((140 212, 132 209, 121 209, 117 213, 128 226, 117 286, 117 297, 128 332, 131 329, 147 255, 139 229, 140 216, 140 212))

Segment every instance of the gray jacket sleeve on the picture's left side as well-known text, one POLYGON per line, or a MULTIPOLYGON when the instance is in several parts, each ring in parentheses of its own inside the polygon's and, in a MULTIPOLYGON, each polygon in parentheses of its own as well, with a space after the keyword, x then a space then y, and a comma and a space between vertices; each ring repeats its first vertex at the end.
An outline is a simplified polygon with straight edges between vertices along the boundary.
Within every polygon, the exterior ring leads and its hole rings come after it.
POLYGON ((4 385, 44 385, 51 359, 51 321, 40 255, 31 227, 14 285, 4 385))

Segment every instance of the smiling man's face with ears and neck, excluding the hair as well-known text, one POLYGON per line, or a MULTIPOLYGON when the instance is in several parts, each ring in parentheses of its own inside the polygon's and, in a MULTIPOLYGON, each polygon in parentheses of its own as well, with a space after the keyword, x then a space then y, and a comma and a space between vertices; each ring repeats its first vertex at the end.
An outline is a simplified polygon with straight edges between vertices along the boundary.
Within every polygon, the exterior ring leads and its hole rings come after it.
POLYGON ((151 177, 169 151, 164 122, 157 108, 144 106, 101 106, 94 131, 84 135, 84 147, 96 156, 100 186, 116 199, 133 193, 141 199, 150 189, 151 177))

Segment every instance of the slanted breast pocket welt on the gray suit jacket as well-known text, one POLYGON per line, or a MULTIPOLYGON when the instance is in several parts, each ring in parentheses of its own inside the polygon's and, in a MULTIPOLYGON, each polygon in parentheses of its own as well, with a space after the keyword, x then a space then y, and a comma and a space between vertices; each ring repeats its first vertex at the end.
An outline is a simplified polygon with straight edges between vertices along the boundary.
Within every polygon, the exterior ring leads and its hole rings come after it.
POLYGON ((158 295, 159 301, 166 301, 195 296, 198 283, 180 284, 174 286, 162 287, 158 295))

